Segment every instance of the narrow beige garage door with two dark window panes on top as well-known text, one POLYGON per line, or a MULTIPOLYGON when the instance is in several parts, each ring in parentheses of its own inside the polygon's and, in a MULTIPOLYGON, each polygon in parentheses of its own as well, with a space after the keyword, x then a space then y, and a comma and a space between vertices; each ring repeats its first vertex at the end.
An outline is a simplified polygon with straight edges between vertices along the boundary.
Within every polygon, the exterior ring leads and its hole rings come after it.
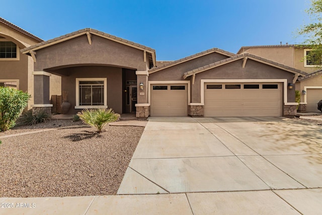
POLYGON ((151 85, 151 116, 187 116, 187 84, 151 85))

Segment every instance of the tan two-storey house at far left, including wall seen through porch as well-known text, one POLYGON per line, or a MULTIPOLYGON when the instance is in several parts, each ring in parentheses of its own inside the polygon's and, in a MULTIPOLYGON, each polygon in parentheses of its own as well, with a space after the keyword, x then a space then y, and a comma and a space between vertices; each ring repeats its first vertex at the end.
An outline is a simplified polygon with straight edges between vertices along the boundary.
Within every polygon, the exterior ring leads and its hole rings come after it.
MULTIPOLYGON (((20 49, 43 40, 0 18, 0 86, 28 92, 31 99, 28 109, 34 104, 34 61, 31 56, 21 54, 20 49)), ((60 77, 51 79, 51 93, 60 95, 60 77), (59 86, 57 88, 57 86, 59 86)))

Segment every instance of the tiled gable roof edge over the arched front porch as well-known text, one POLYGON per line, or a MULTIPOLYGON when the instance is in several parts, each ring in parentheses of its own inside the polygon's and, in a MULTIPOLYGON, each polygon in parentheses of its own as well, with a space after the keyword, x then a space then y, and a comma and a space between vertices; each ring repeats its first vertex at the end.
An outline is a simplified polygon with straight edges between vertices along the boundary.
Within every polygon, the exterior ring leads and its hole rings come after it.
POLYGON ((139 49, 145 49, 145 50, 150 51, 150 52, 155 52, 155 50, 150 48, 150 47, 147 47, 147 46, 144 46, 144 45, 141 45, 141 44, 129 41, 129 40, 125 40, 123 38, 116 37, 114 35, 107 34, 107 33, 104 33, 102 31, 98 31, 98 30, 95 30, 95 29, 92 29, 92 28, 81 29, 81 30, 78 30, 78 31, 71 32, 69 34, 62 35, 60 37, 56 37, 56 38, 53 38, 53 39, 50 39, 50 40, 47 40, 47 41, 44 41, 44 42, 41 42, 41 43, 37 43, 35 45, 32 45, 30 47, 22 49, 21 52, 25 52, 25 51, 32 50, 32 49, 35 49, 35 50, 41 49, 42 46, 44 46, 44 45, 48 46, 48 45, 51 45, 51 43, 53 45, 53 44, 58 43, 60 40, 63 40, 63 39, 66 40, 66 39, 68 39, 68 37, 72 37, 72 36, 75 36, 75 35, 76 36, 77 35, 81 36, 83 34, 86 34, 87 32, 92 32, 92 33, 94 33, 96 35, 110 38, 111 40, 114 40, 116 42, 126 43, 126 44, 129 44, 131 46, 136 46, 139 49))

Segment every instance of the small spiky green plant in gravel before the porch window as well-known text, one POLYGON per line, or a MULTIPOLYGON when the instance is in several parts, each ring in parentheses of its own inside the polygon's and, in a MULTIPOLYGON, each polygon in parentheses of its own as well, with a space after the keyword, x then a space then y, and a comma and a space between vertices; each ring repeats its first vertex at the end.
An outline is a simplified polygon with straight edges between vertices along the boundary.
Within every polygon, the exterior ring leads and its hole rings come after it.
POLYGON ((120 118, 120 114, 114 113, 110 109, 85 109, 78 112, 77 115, 83 122, 97 128, 98 132, 102 131, 104 125, 109 122, 115 122, 120 118))

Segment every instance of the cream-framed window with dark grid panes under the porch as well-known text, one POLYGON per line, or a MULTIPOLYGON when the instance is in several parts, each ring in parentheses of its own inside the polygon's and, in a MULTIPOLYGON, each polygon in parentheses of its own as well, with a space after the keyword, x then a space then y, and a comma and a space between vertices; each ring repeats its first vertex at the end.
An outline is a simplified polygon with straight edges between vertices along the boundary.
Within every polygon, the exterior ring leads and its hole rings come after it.
POLYGON ((95 108, 107 104, 107 79, 76 79, 76 107, 95 108))

